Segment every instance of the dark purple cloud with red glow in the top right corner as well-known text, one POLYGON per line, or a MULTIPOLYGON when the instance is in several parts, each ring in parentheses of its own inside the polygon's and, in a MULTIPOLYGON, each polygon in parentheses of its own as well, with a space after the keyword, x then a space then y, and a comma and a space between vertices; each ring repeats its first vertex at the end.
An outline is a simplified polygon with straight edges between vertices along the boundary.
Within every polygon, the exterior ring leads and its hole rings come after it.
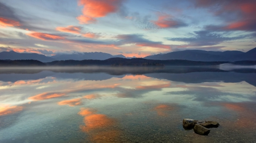
POLYGON ((196 0, 196 7, 209 8, 226 22, 224 25, 209 25, 207 28, 221 31, 256 31, 256 1, 210 1, 196 0))

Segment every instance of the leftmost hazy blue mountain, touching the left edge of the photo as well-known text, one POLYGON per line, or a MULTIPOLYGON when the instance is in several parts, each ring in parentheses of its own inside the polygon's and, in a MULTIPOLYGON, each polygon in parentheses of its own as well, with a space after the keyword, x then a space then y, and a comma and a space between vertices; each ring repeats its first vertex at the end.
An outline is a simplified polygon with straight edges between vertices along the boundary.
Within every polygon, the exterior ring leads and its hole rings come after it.
POLYGON ((33 59, 33 60, 39 60, 41 62, 52 62, 53 60, 56 60, 54 58, 46 57, 45 55, 40 55, 36 53, 16 53, 15 51, 1 52, 0 59, 10 59, 10 60, 33 59))

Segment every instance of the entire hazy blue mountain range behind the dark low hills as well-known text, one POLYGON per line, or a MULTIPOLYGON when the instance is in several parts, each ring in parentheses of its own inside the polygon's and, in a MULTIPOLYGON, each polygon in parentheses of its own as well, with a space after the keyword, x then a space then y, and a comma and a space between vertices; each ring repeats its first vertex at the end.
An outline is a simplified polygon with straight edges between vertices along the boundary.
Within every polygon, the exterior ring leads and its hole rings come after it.
MULTIPOLYGON (((3 51, 0 53, 0 60, 22 60, 22 59, 34 59, 41 62, 52 62, 54 60, 106 60, 109 58, 136 58, 136 57, 125 57, 123 55, 111 55, 102 52, 92 53, 73 53, 73 54, 56 54, 52 57, 36 53, 16 53, 15 51, 3 51)), ((226 61, 234 62, 240 60, 256 60, 256 47, 247 52, 242 51, 205 51, 205 50, 184 50, 184 51, 172 51, 166 54, 149 55, 144 59, 154 60, 170 60, 170 59, 181 59, 181 60, 192 60, 202 62, 214 62, 214 61, 226 61)))

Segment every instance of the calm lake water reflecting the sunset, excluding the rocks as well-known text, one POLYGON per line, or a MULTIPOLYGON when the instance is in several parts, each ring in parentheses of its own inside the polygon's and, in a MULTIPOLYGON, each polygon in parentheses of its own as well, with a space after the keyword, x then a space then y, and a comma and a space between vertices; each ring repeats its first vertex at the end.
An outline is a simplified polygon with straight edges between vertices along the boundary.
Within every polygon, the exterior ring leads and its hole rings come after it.
POLYGON ((254 68, 1 69, 0 142, 256 142, 255 101, 254 68))

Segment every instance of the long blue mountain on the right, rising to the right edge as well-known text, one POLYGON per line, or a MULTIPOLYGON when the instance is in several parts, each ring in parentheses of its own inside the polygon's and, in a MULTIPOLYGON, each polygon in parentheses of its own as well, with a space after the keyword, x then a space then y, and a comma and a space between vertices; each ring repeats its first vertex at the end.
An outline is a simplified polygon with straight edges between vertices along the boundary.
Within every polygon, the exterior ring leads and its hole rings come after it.
POLYGON ((145 59, 183 59, 193 61, 238 61, 238 60, 256 60, 256 47, 243 53, 242 51, 204 51, 204 50, 184 50, 173 51, 167 54, 149 55, 145 59))

